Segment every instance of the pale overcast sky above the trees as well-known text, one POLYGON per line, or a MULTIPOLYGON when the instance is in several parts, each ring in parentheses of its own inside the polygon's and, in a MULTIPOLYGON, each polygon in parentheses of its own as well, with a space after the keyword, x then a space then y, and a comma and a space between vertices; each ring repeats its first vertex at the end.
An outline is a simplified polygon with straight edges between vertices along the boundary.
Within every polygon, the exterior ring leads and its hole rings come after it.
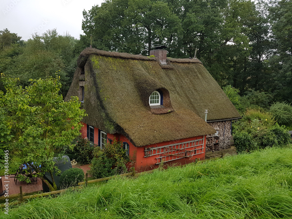
POLYGON ((0 0, 0 30, 8 28, 23 40, 32 34, 42 34, 57 29, 61 35, 66 31, 79 39, 82 12, 90 10, 104 0, 0 0))

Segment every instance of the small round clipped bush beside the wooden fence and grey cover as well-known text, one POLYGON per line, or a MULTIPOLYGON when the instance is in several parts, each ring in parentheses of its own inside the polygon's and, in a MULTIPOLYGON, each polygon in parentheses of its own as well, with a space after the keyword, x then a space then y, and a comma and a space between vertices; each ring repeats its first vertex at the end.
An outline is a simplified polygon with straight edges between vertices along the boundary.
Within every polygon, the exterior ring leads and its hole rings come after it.
POLYGON ((79 168, 70 168, 60 175, 60 188, 77 186, 84 179, 84 172, 79 168))

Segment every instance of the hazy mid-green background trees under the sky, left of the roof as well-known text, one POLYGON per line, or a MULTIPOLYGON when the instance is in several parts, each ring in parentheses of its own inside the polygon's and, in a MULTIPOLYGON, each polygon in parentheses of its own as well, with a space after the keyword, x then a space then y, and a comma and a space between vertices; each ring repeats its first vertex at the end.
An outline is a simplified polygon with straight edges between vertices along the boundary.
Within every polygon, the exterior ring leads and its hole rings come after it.
MULTIPOLYGON (((58 71, 63 85, 61 93, 65 96, 77 67, 76 59, 74 60, 79 55, 74 53, 76 41, 67 33, 59 35, 56 29, 48 30, 42 35, 34 34, 21 51, 18 44, 11 44, 0 52, 0 71, 11 78, 20 78, 22 86, 27 86, 29 79, 54 76, 58 71), (5 57, 1 58, 1 54, 5 57), (75 67, 74 70, 72 66, 75 67)), ((3 90, 2 87, 0 89, 3 90)))

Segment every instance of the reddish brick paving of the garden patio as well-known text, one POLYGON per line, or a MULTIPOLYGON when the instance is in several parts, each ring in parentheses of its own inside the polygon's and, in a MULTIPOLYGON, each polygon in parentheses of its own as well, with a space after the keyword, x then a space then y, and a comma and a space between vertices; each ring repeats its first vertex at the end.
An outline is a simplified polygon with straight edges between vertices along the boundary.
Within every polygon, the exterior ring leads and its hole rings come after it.
MULTIPOLYGON (((84 173, 86 173, 88 170, 90 170, 89 165, 90 164, 86 164, 86 165, 80 166, 79 164, 77 164, 77 165, 72 166, 72 167, 73 168, 81 168, 84 171, 84 173)), ((43 190, 43 186, 42 186, 42 182, 41 182, 40 178, 37 178, 37 183, 36 182, 32 182, 32 183, 29 183, 28 185, 25 182, 19 182, 17 180, 17 183, 15 185, 15 182, 13 181, 14 178, 10 178, 10 176, 14 176, 14 175, 9 175, 8 179, 5 179, 4 176, 1 176, 3 190, 5 189, 4 186, 6 184, 8 184, 8 186, 9 186, 8 194, 9 195, 19 194, 20 193, 20 189, 19 189, 20 186, 22 186, 22 192, 23 193, 31 193, 31 192, 37 192, 37 191, 43 190), (9 181, 9 182, 7 182, 7 181, 9 181)))

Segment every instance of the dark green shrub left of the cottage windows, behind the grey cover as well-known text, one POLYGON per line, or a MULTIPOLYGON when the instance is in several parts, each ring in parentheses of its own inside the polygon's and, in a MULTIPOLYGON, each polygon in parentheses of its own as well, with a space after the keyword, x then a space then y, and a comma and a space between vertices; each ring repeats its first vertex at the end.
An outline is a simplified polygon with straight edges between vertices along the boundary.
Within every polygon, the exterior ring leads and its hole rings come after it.
POLYGON ((73 151, 66 149, 64 152, 65 155, 67 155, 70 160, 75 159, 78 164, 89 164, 93 159, 93 146, 90 144, 89 140, 79 136, 73 140, 72 144, 75 145, 73 151))

